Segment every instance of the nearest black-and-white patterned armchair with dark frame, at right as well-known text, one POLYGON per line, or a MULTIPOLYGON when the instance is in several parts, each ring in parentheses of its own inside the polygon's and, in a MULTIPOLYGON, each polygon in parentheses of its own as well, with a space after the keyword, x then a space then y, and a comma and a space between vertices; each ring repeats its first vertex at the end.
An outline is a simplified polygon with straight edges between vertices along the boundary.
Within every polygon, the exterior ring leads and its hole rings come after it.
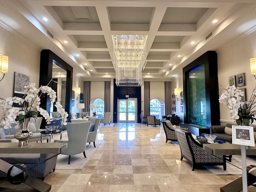
POLYGON ((190 132, 175 129, 175 133, 180 145, 180 160, 184 157, 190 162, 192 171, 196 165, 223 165, 223 169, 226 170, 226 158, 224 156, 207 153, 203 145, 194 140, 190 132))

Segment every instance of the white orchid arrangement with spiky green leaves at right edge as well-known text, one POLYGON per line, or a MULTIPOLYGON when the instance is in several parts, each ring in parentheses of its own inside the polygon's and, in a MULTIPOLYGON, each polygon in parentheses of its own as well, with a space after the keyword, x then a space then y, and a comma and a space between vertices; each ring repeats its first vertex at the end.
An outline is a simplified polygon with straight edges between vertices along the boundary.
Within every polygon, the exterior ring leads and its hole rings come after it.
POLYGON ((252 96, 248 102, 243 101, 244 92, 241 91, 236 86, 227 86, 222 88, 220 91, 224 91, 219 98, 219 102, 225 104, 232 115, 232 120, 236 120, 238 125, 249 125, 249 122, 256 120, 254 118, 254 107, 256 102, 254 99, 256 97, 255 89, 252 92, 252 96))

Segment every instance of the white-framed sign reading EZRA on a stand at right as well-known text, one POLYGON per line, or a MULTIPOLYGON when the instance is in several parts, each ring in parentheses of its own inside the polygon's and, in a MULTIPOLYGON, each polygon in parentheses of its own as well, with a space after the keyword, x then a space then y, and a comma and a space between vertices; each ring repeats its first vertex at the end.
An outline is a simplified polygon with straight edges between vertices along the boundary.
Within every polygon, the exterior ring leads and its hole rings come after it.
POLYGON ((255 147, 253 127, 232 125, 232 144, 255 147))

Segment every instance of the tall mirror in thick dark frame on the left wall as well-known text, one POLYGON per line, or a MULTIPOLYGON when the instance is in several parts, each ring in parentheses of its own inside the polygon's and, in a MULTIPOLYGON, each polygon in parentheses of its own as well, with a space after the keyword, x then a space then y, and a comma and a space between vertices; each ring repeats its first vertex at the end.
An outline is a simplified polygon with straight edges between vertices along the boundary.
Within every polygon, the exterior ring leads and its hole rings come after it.
MULTIPOLYGON (((67 72, 56 64, 56 61, 52 62, 52 89, 56 92, 56 101, 60 102, 62 106, 66 105, 66 79, 67 72)), ((58 114, 53 115, 52 112, 56 112, 57 109, 54 105, 50 108, 51 118, 58 118, 58 114)))

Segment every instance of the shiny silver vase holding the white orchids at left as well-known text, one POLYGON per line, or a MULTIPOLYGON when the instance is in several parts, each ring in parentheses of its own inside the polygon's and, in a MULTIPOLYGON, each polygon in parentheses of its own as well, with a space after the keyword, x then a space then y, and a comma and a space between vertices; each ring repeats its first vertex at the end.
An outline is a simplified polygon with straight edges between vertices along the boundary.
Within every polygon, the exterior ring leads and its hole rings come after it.
POLYGON ((14 138, 19 141, 19 146, 28 145, 28 139, 32 137, 33 132, 28 129, 30 118, 25 118, 22 124, 19 124, 20 130, 14 134, 14 138))

